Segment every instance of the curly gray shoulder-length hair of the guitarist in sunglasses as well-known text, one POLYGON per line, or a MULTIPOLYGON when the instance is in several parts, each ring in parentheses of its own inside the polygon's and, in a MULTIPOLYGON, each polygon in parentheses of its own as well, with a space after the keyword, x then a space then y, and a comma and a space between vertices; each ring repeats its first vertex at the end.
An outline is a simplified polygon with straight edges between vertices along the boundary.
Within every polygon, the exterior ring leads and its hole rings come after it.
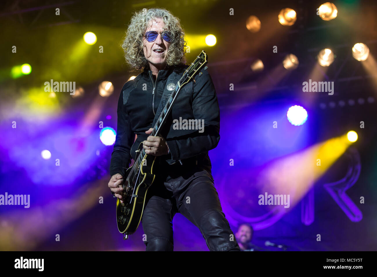
POLYGON ((122 44, 124 57, 130 65, 131 71, 143 69, 148 64, 143 52, 143 35, 150 21, 156 18, 162 18, 167 31, 172 34, 172 40, 166 52, 166 63, 168 65, 185 63, 187 42, 185 41, 185 33, 179 19, 166 9, 144 8, 141 11, 135 12, 132 16, 122 44))

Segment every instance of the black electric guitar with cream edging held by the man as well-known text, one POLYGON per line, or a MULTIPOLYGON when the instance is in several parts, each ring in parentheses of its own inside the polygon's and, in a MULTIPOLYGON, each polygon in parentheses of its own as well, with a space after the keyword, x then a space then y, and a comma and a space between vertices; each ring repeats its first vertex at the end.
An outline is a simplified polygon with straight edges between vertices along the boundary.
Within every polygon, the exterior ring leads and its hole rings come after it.
MULTIPOLYGON (((158 136, 162 126, 165 124, 167 116, 177 99, 179 91, 182 87, 189 83, 199 72, 201 68, 207 64, 207 54, 202 51, 195 61, 184 71, 182 78, 178 81, 175 89, 172 90, 164 109, 159 115, 150 136, 158 136)), ((204 68, 207 69, 207 66, 204 68)), ((135 162, 132 167, 128 168, 124 174, 125 181, 123 183, 123 203, 120 199, 116 199, 116 223, 118 230, 124 235, 124 239, 128 239, 128 235, 135 233, 141 218, 143 217, 145 198, 148 188, 155 180, 153 173, 153 164, 156 156, 148 155, 143 148, 143 142, 139 144, 136 150, 135 162)))

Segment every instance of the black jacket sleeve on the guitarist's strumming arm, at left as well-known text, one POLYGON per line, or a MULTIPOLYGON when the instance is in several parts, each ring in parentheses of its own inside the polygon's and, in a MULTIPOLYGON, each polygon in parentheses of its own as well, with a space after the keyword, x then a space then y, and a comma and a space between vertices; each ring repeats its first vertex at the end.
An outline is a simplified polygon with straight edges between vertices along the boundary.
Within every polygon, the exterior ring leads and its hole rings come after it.
POLYGON ((129 115, 126 106, 123 105, 123 91, 120 93, 118 100, 118 123, 116 127, 116 137, 110 162, 110 176, 120 173, 124 176, 124 172, 131 162, 130 151, 135 140, 135 133, 132 132, 129 115))

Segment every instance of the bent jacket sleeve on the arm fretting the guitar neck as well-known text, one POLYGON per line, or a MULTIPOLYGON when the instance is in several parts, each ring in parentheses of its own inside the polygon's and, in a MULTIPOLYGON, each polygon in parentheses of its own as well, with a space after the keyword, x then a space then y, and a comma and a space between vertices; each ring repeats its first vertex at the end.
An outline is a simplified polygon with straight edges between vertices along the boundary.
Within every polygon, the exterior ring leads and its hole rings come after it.
POLYGON ((204 120, 203 132, 167 141, 172 159, 186 159, 215 148, 220 140, 220 111, 215 86, 207 70, 195 77, 192 109, 194 119, 204 120))

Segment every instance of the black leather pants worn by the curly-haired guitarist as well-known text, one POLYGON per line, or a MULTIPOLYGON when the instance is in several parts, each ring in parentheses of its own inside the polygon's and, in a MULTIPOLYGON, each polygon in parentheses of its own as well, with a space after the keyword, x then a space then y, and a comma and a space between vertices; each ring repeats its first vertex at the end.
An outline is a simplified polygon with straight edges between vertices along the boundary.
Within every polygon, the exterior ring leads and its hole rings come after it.
POLYGON ((173 251, 177 212, 199 228, 210 251, 240 251, 210 172, 179 163, 166 165, 159 172, 148 190, 142 218, 146 251, 173 251))

